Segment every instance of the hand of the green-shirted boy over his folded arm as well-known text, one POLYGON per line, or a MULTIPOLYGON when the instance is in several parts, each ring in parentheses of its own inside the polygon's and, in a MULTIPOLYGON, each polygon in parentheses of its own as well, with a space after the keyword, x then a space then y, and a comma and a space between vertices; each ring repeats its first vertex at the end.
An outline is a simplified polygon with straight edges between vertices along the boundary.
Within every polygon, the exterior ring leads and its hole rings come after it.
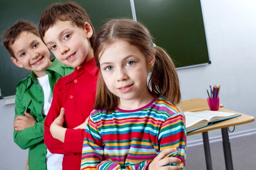
POLYGON ((24 114, 25 116, 18 115, 15 118, 13 122, 14 130, 21 131, 36 124, 36 119, 32 115, 30 115, 30 113, 24 112, 24 114))

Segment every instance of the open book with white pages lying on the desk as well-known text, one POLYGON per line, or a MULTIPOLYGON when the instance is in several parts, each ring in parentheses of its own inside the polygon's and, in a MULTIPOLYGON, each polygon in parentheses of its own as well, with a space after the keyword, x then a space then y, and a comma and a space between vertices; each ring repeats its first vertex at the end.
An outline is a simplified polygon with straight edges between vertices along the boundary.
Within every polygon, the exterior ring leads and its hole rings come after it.
POLYGON ((237 113, 205 110, 203 112, 184 112, 186 131, 191 132, 211 124, 240 116, 237 113))

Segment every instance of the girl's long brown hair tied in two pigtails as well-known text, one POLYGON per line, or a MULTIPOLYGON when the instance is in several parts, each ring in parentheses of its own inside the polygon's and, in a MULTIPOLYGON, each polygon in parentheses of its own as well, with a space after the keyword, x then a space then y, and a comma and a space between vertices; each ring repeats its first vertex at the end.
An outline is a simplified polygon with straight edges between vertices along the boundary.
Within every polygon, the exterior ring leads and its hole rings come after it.
MULTIPOLYGON (((124 40, 137 46, 144 53, 147 61, 155 54, 155 63, 149 79, 151 94, 157 98, 164 96, 172 104, 178 104, 181 99, 178 75, 169 55, 159 46, 152 47, 153 41, 146 27, 130 19, 112 19, 99 29, 94 43, 96 66, 100 68, 99 58, 104 50, 117 40, 124 40)), ((113 95, 107 88, 101 73, 97 84, 95 109, 106 108, 111 112, 119 105, 119 97, 113 95)))

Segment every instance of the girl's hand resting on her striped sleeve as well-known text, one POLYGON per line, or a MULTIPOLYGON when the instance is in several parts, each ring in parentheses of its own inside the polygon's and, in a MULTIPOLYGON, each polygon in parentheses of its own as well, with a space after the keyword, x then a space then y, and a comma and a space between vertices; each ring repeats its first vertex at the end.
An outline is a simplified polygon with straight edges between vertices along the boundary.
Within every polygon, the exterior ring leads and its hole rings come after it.
POLYGON ((168 163, 181 163, 181 160, 176 157, 166 157, 167 154, 175 152, 177 148, 168 148, 155 157, 155 159, 148 165, 146 170, 180 170, 180 166, 166 166, 168 163))

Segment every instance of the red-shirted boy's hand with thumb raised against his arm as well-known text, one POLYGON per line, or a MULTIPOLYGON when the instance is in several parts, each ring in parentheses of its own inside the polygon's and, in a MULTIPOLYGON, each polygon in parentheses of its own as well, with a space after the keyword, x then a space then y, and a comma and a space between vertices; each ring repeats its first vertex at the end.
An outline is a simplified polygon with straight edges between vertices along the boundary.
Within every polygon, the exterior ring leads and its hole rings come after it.
POLYGON ((63 128, 63 123, 64 123, 64 115, 65 115, 65 110, 64 108, 61 108, 61 113, 56 117, 56 119, 52 122, 50 126, 50 132, 52 134, 52 137, 55 139, 58 139, 62 142, 64 142, 65 139, 65 132, 67 128, 63 128))

